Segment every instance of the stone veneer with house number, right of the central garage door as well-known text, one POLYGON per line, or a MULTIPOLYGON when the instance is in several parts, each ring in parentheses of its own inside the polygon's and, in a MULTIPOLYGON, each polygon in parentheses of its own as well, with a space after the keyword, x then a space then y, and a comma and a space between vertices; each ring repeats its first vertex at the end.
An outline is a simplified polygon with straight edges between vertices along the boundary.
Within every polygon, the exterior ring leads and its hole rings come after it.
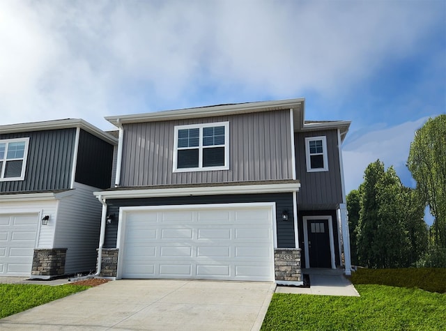
POLYGON ((276 248, 274 250, 276 282, 301 283, 300 248, 276 248))

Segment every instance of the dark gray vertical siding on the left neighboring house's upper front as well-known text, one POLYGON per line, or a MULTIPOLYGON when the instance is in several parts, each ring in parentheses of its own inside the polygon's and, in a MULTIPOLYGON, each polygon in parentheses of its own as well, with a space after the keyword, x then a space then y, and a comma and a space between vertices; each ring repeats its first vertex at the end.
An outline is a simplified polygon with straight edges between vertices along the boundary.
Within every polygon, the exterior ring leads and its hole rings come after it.
POLYGON ((24 180, 0 182, 0 192, 70 188, 75 128, 0 134, 0 139, 29 137, 24 180))

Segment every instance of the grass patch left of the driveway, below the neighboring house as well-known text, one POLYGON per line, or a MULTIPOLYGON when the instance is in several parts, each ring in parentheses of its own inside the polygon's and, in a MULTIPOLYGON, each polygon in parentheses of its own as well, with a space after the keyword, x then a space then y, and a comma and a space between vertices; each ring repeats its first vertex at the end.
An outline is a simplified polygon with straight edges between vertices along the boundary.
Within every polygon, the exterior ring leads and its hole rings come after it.
POLYGON ((89 287, 70 284, 61 286, 0 284, 0 318, 84 291, 89 287))

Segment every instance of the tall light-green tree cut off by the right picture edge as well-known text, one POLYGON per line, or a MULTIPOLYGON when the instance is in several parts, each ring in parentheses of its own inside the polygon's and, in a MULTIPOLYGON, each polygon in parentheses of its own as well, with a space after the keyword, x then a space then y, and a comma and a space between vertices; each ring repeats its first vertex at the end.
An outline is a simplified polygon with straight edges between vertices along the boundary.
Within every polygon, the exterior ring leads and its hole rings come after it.
POLYGON ((429 118, 415 132, 408 168, 417 180, 417 190, 435 217, 434 243, 446 249, 446 114, 429 118))

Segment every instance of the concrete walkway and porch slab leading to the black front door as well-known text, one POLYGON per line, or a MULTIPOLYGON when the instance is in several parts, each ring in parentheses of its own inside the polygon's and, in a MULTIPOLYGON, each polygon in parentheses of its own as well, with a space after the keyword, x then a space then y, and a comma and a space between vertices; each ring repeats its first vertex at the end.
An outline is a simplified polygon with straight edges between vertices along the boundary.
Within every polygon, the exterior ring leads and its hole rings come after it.
POLYGON ((277 286, 275 292, 312 295, 360 296, 360 294, 356 291, 355 286, 353 286, 353 284, 351 284, 351 282, 343 275, 342 271, 332 269, 302 269, 302 273, 307 273, 309 275, 309 288, 277 286))

